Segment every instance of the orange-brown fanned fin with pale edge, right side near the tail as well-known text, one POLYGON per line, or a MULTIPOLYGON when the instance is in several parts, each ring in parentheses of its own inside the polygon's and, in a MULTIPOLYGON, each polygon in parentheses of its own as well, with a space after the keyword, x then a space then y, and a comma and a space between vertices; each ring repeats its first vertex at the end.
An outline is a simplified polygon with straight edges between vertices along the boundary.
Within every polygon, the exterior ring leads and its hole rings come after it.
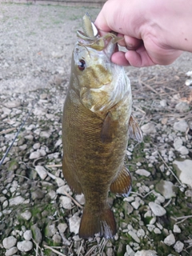
POLYGON ((122 194, 124 197, 128 197, 130 190, 130 172, 126 169, 126 166, 122 166, 122 170, 118 173, 118 177, 110 185, 110 191, 112 193, 122 194))

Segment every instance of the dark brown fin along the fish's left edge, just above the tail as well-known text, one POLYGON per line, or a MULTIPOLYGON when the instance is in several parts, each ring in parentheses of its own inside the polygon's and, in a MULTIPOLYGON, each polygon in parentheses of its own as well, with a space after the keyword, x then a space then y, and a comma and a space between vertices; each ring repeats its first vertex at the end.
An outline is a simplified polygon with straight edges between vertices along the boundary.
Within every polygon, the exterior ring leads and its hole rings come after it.
POLYGON ((82 194, 82 186, 78 182, 78 178, 76 177, 74 172, 69 170, 65 158, 62 159, 62 173, 64 178, 66 179, 66 182, 70 186, 70 189, 77 194, 82 194))

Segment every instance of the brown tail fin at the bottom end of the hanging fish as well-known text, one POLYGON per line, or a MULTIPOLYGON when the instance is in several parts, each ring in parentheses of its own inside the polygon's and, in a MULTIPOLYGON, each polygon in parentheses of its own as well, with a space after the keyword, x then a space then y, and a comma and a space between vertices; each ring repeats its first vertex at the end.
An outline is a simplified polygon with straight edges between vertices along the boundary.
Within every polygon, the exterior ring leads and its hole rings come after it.
POLYGON ((83 210, 79 237, 93 238, 94 234, 99 234, 105 238, 113 238, 114 234, 116 234, 114 214, 109 207, 99 214, 93 214, 87 208, 83 210))

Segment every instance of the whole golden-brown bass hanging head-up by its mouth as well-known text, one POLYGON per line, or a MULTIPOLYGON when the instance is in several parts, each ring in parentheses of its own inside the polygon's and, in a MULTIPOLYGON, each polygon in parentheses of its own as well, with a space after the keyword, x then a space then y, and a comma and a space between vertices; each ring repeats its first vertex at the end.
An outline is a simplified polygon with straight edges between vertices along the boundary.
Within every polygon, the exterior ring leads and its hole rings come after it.
POLYGON ((85 196, 79 237, 113 238, 117 228, 108 194, 130 194, 126 147, 129 137, 142 142, 142 132, 131 114, 130 79, 110 61, 122 38, 100 36, 89 14, 82 30, 77 31, 63 108, 62 172, 70 189, 85 196))

